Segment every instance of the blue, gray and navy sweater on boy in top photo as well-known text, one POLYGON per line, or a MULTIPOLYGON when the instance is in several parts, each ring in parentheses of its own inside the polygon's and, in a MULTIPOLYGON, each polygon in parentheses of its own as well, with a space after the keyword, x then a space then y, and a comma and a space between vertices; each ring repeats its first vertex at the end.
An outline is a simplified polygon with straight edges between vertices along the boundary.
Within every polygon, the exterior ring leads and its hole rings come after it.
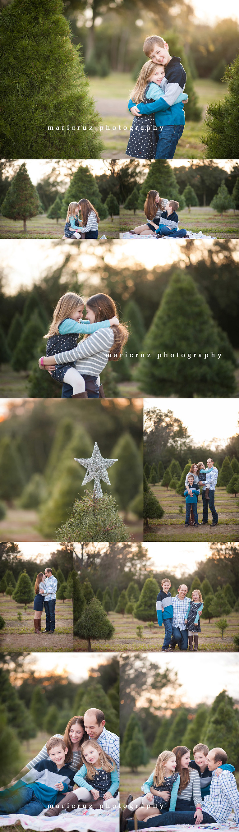
MULTIPOLYGON (((165 87, 167 87, 165 96, 161 96, 157 102, 137 103, 139 112, 143 115, 154 112, 155 124, 158 127, 163 127, 166 124, 185 124, 183 102, 178 104, 173 104, 173 102, 176 102, 180 92, 183 92, 186 81, 187 75, 185 69, 183 69, 183 64, 180 62, 180 57, 173 55, 171 61, 168 62, 168 66, 165 67, 165 79, 160 84, 163 92, 163 85, 165 84, 165 87)), ((135 106, 131 99, 128 106, 129 110, 131 106, 135 106)))

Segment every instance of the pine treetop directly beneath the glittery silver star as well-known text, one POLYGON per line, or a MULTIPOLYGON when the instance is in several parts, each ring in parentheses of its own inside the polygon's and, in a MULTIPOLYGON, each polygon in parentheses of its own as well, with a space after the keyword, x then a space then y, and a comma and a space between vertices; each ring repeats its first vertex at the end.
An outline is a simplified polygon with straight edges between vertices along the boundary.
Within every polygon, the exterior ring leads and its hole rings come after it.
POLYGON ((94 493, 85 489, 85 497, 75 500, 69 520, 56 529, 56 540, 65 543, 90 540, 114 543, 129 540, 129 533, 111 494, 97 499, 94 493))

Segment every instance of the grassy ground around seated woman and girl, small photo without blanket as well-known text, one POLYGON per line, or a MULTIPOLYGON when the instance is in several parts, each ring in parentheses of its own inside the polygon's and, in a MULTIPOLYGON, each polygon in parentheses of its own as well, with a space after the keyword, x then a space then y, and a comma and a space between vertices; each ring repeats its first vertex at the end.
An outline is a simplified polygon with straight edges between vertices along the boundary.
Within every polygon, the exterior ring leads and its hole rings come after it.
MULTIPOLYGON (((34 216, 27 220, 27 232, 23 231, 22 220, 7 220, 6 216, 0 215, 0 239, 14 240, 61 240, 64 235, 65 220, 48 220, 46 214, 34 216)), ((119 238, 120 216, 114 216, 113 222, 110 216, 107 220, 100 220, 98 239, 105 234, 108 240, 119 238)), ((67 240, 69 243, 70 240, 67 240)), ((85 245, 88 240, 81 240, 85 245)), ((75 240, 76 243, 76 240, 75 240)))

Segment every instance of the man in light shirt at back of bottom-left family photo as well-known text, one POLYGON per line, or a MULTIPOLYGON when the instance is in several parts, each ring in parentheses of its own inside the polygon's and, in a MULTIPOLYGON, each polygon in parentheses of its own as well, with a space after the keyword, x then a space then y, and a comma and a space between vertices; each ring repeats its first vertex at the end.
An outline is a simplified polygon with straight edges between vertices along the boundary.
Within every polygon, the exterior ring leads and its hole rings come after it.
POLYGON ((84 726, 89 739, 97 740, 103 751, 115 760, 120 775, 120 737, 105 728, 105 715, 98 708, 90 708, 84 714, 84 726))

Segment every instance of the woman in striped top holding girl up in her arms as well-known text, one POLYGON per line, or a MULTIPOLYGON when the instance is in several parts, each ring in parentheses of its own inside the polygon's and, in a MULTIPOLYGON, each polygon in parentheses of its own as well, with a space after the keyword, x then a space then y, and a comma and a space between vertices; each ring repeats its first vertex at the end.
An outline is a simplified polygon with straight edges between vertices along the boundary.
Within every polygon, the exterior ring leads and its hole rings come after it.
MULTIPOLYGON (((107 320, 116 315, 115 301, 109 297, 99 293, 92 295, 85 304, 86 319, 90 324, 98 323, 100 320, 107 320), (111 314, 112 313, 112 314, 111 314)), ((117 317, 117 315, 116 315, 117 317)), ((69 361, 75 362, 75 368, 78 369, 80 375, 85 379, 85 391, 88 394, 88 399, 105 398, 105 394, 100 391, 99 376, 103 369, 105 369, 108 361, 119 361, 120 353, 124 344, 129 338, 129 332, 124 324, 119 326, 112 326, 109 329, 99 329, 98 332, 92 335, 85 335, 85 338, 77 344, 75 349, 70 349, 64 353, 56 355, 44 356, 42 362, 46 369, 55 369, 56 364, 67 364, 69 361)), ((44 369, 39 359, 40 369, 44 369)), ((63 384, 62 399, 69 399, 72 395, 72 388, 69 385, 63 384)))

